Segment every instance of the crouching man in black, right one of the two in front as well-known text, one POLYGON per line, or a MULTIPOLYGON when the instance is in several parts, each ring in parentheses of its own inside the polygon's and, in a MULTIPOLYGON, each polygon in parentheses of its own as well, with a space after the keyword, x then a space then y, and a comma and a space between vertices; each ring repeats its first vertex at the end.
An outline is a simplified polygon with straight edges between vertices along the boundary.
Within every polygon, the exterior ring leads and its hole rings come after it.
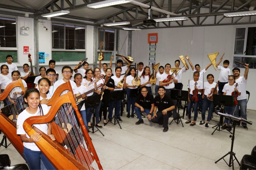
MULTIPOLYGON (((172 115, 172 110, 175 109, 175 105, 172 102, 172 99, 165 95, 165 88, 163 86, 158 87, 158 94, 159 96, 155 97, 155 108, 154 108, 154 115, 151 119, 153 123, 163 124, 163 132, 168 131, 168 119, 172 115), (156 109, 158 108, 158 112, 156 109)), ((173 115, 176 117, 177 115, 173 115)))

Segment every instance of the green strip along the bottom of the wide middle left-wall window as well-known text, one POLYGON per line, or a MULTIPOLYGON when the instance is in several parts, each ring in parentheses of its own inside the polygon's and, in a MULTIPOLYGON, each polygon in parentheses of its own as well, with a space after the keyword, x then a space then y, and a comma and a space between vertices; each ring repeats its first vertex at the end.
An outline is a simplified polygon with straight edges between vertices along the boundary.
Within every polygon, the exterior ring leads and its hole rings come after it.
POLYGON ((52 59, 56 62, 65 62, 65 61, 80 61, 83 60, 86 56, 85 51, 76 52, 66 52, 66 51, 52 51, 52 59))

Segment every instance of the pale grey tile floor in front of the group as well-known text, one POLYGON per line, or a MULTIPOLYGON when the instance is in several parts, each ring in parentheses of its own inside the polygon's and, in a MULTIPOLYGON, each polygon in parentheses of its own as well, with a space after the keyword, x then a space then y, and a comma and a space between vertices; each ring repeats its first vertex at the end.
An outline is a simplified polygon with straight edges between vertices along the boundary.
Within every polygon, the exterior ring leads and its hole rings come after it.
MULTIPOLYGON (((138 119, 127 118, 124 112, 122 119, 122 129, 110 123, 100 129, 104 137, 100 132, 89 133, 104 169, 232 169, 224 160, 214 163, 231 148, 228 131, 216 131, 211 135, 212 127, 219 121, 217 115, 214 115, 209 129, 198 125, 201 115, 193 127, 185 124, 185 116, 182 119, 184 127, 173 122, 166 133, 162 126, 148 122, 146 118, 143 118, 144 124, 135 125, 138 119)), ((247 119, 253 122, 248 125, 249 130, 238 126, 235 131, 233 152, 239 162, 244 154, 251 154, 256 145, 256 111, 247 110, 247 119)), ((172 117, 169 122, 171 120, 172 117)), ((0 139, 2 137, 3 134, 0 139)), ((25 163, 12 145, 7 149, 1 146, 0 154, 8 154, 12 165, 25 163)), ((228 161, 229 157, 225 160, 228 161)), ((237 162, 234 166, 239 169, 237 162)))

